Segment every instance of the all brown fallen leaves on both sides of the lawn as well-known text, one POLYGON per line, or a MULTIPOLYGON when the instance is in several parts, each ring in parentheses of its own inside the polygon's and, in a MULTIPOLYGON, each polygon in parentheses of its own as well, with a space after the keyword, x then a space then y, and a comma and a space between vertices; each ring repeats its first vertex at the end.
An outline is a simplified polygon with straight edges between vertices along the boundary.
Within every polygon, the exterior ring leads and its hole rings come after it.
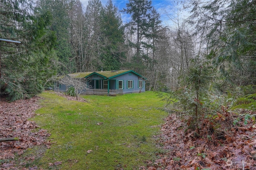
MULTIPOLYGON (((63 94, 58 94, 64 96, 63 94)), ((67 97, 66 95, 64 97, 67 97)), ((28 148, 44 145, 50 148, 51 141, 47 141, 50 134, 45 129, 35 132, 38 125, 29 121, 34 116, 39 97, 28 100, 0 102, 0 138, 18 137, 19 141, 2 142, 0 150, 0 169, 17 170, 26 162, 14 160, 16 154, 23 154, 28 148)), ((68 98, 75 100, 75 98, 68 98)), ((85 102, 85 101, 84 101, 85 102)), ((242 110, 248 114, 246 110, 242 110)), ((256 112, 250 111, 250 115, 256 112)), ((158 144, 165 150, 158 153, 157 160, 147 161, 147 167, 141 170, 252 170, 256 167, 256 126, 253 119, 236 122, 238 115, 222 109, 215 119, 203 119, 200 134, 188 129, 184 119, 175 114, 169 115, 161 126, 161 134, 156 136, 158 144)), ((88 150, 91 152, 91 150, 88 150)), ((26 161, 35 157, 27 157, 26 161)), ((52 166, 62 162, 50 163, 52 166)), ((22 170, 37 170, 37 166, 22 168, 22 170)))

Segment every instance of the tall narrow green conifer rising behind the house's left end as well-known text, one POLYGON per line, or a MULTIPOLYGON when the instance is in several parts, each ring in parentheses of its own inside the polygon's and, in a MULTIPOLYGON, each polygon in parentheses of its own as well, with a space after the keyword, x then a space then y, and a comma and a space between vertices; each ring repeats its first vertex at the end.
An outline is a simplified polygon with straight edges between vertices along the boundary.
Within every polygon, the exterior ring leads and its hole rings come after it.
POLYGON ((42 12, 49 11, 52 14, 52 23, 50 29, 56 33, 56 55, 60 62, 59 74, 74 72, 73 58, 74 51, 70 43, 70 18, 68 12, 70 11, 69 1, 63 0, 43 0, 38 1, 38 8, 42 12))

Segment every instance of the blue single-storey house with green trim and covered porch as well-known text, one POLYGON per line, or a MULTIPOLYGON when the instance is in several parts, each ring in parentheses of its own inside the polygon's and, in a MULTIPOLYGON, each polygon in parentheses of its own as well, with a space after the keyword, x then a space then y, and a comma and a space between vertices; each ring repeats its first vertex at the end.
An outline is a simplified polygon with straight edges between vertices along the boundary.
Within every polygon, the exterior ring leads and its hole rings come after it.
MULTIPOLYGON (((71 78, 84 78, 89 88, 83 94, 116 95, 145 92, 145 80, 133 70, 114 70, 97 72, 76 72, 68 74, 71 78)), ((67 87, 56 83, 55 91, 66 91, 67 87)))

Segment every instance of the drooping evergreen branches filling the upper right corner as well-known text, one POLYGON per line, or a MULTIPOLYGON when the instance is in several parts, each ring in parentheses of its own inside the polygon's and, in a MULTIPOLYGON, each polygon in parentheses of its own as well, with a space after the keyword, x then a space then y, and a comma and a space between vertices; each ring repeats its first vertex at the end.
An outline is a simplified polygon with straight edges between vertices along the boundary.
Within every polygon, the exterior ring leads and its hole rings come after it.
POLYGON ((236 85, 256 84, 256 1, 193 1, 191 23, 209 44, 209 57, 236 85))

